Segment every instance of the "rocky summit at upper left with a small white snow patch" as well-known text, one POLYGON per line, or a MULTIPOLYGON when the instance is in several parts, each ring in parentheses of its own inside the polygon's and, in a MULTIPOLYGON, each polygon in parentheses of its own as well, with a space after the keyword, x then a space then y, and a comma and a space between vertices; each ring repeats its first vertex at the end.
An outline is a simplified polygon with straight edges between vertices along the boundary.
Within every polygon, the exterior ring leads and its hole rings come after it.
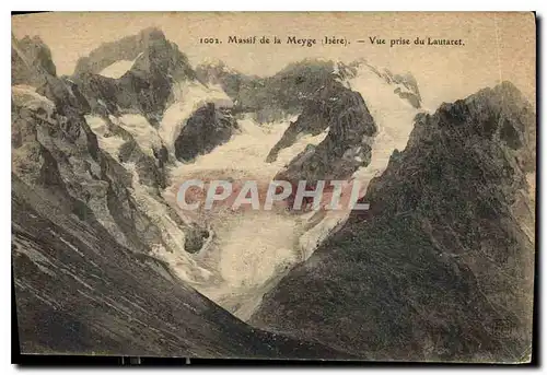
POLYGON ((140 34, 104 44, 78 61, 74 81, 98 114, 137 112, 158 125, 172 99, 175 82, 194 80, 188 59, 163 32, 148 28, 140 34), (118 60, 132 60, 120 78, 101 75, 118 60))

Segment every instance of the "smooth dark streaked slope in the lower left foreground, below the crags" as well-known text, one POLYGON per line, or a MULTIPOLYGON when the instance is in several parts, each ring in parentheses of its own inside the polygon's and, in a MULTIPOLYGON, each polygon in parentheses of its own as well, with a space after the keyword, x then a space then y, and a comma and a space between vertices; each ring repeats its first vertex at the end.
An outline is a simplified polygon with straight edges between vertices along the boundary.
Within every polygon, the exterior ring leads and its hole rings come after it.
POLYGON ((350 358, 256 330, 121 247, 94 220, 13 177, 12 251, 23 353, 350 358), (55 203, 55 204, 53 204, 55 203), (66 211, 66 212, 62 212, 66 211))

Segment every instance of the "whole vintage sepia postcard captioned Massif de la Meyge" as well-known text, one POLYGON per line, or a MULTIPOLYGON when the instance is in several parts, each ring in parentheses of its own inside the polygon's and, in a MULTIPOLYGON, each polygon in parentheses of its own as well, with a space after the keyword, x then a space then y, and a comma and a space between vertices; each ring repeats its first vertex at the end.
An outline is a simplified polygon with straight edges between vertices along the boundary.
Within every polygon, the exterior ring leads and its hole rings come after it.
POLYGON ((526 363, 534 13, 12 16, 21 352, 526 363))

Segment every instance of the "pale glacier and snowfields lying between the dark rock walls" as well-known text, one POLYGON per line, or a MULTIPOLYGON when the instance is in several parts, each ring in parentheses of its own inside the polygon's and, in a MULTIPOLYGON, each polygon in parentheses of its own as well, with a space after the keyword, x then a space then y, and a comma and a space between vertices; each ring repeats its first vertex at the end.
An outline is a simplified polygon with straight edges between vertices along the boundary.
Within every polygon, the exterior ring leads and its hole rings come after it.
MULTIPOLYGON (((419 112, 399 97, 396 90, 400 84, 387 82, 379 77, 377 71, 361 65, 357 75, 345 82, 362 95, 379 129, 370 165, 353 175, 361 181, 363 194, 370 179, 385 169, 393 151, 405 149, 414 117, 419 112)), ((176 85, 174 102, 165 110, 158 129, 140 115, 124 115, 112 118, 112 121, 130 132, 148 154, 153 148, 164 144, 174 161, 167 176, 171 185, 162 192, 164 201, 151 197, 151 192, 139 185, 132 165, 124 165, 133 173, 132 194, 137 202, 144 212, 152 214, 167 244, 166 247, 153 244, 154 256, 167 261, 181 279, 200 293, 237 317, 247 319, 260 304, 263 295, 292 266, 307 259, 337 225, 347 220, 349 211, 302 215, 279 211, 183 212, 176 202, 176 192, 184 180, 231 177, 269 181, 307 144, 318 144, 328 133, 326 129, 316 137, 302 136, 294 144, 282 149, 274 163, 266 163, 269 151, 298 116, 276 124, 257 124, 252 116, 245 116, 237 121, 240 130, 229 142, 197 156, 193 163, 177 162, 174 157, 177 134, 196 109, 211 102, 218 106, 232 106, 232 101, 220 86, 182 82, 176 85), (212 228, 212 238, 199 253, 185 251, 184 232, 170 218, 167 206, 185 223, 197 222, 212 228)), ((117 137, 105 137, 102 119, 93 116, 86 119, 97 134, 101 148, 117 155, 123 141, 117 137)))

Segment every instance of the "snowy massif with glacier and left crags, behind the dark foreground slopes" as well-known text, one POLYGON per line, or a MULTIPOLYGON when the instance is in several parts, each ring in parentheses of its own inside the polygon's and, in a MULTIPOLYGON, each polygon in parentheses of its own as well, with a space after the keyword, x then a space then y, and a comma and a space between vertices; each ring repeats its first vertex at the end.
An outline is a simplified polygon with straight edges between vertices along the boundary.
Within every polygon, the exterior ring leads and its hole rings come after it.
MULTIPOLYGON (((74 212, 96 218, 119 245, 165 261, 242 319, 347 216, 200 215, 179 209, 179 184, 212 176, 375 175, 393 149, 406 144, 418 112, 385 70, 363 61, 303 60, 266 78, 222 62, 191 70, 155 28, 103 44, 80 59, 72 75, 59 78, 42 65, 53 62, 34 65, 39 86, 27 80, 12 87, 14 174, 74 201, 74 212), (152 103, 139 96, 147 90, 123 83, 136 77, 166 82, 161 97, 144 85, 158 105, 143 106, 152 103), (38 112, 47 114, 46 122, 36 119, 38 112), (66 124, 67 134, 58 124, 66 124), (45 177, 50 168, 58 177, 45 177), (259 244, 255 233, 261 233, 259 244)), ((19 71, 14 65, 14 77, 19 71)))

